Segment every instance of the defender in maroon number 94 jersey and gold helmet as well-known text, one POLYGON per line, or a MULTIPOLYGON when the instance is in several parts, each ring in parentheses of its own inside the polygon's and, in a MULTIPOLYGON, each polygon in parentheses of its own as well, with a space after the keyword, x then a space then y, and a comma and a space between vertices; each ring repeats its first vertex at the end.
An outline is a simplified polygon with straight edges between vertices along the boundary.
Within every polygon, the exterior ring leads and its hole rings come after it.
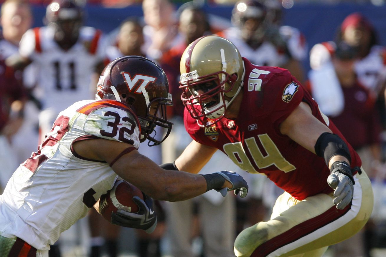
POLYGON ((364 226, 373 194, 361 159, 286 69, 254 65, 230 41, 205 36, 186 48, 180 70, 194 140, 162 166, 198 173, 220 149, 285 191, 271 220, 237 236, 236 256, 320 257, 364 226))

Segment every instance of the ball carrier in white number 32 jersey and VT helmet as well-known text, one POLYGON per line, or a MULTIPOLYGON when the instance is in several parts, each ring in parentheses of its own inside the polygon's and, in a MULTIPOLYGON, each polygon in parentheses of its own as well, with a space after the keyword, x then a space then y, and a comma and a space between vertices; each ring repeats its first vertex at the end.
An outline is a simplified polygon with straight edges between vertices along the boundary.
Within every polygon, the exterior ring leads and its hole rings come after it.
POLYGON ((151 198, 182 201, 211 189, 246 196, 248 186, 235 172, 167 171, 139 154, 140 142, 158 145, 169 135, 166 106, 171 104, 168 80, 156 63, 124 56, 108 64, 96 100, 60 112, 0 195, 0 256, 47 257, 61 232, 93 206, 98 210, 100 196, 118 176, 141 189, 146 202, 134 197, 139 212, 119 210, 111 222, 149 233, 156 226, 151 198), (160 140, 154 137, 156 126, 166 129, 160 140))

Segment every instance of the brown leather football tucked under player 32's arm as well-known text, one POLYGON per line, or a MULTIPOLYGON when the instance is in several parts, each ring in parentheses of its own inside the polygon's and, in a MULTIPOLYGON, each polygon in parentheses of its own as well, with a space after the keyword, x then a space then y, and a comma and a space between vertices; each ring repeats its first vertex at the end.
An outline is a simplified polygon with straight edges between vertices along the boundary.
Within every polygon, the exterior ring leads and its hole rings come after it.
POLYGON ((139 211, 139 208, 134 203, 133 196, 139 196, 142 200, 144 199, 139 188, 127 181, 117 180, 113 188, 100 197, 99 213, 108 221, 111 221, 111 214, 119 209, 136 213, 139 211))

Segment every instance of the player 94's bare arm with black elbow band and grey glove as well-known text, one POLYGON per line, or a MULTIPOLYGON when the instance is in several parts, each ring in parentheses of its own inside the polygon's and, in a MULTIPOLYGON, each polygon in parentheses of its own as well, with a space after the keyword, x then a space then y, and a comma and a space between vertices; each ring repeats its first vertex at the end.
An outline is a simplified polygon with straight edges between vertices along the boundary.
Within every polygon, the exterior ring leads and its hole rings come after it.
POLYGON ((320 157, 331 171, 328 185, 335 189, 334 204, 343 209, 352 200, 353 185, 350 153, 345 142, 315 118, 306 103, 300 105, 281 123, 280 132, 320 157))

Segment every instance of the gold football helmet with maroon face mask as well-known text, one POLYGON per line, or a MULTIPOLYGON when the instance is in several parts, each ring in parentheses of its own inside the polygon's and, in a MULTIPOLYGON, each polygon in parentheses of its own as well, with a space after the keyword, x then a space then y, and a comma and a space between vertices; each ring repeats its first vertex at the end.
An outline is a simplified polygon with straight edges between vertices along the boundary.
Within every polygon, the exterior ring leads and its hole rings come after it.
POLYGON ((239 50, 222 37, 200 37, 185 49, 179 67, 181 99, 190 115, 200 126, 220 120, 242 88, 239 50))

